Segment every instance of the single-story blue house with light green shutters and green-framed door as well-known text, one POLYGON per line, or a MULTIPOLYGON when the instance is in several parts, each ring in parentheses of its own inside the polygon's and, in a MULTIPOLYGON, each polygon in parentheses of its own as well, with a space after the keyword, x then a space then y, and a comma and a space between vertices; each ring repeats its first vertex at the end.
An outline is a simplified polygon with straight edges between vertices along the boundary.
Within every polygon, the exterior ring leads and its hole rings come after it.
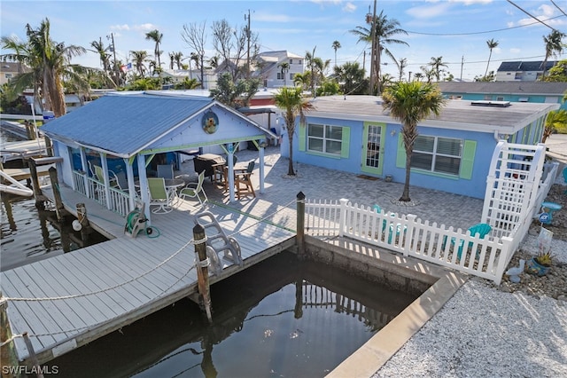
MULTIPOLYGON (((384 113, 381 98, 330 96, 312 103, 315 110, 307 113, 306 124, 296 126, 294 161, 404 182, 400 122, 384 113)), ((439 117, 431 116, 417 127, 410 185, 484 198, 499 140, 539 143, 546 114, 558 107, 448 100, 439 117)), ((281 141, 282 155, 288 156, 287 136, 281 141)))

